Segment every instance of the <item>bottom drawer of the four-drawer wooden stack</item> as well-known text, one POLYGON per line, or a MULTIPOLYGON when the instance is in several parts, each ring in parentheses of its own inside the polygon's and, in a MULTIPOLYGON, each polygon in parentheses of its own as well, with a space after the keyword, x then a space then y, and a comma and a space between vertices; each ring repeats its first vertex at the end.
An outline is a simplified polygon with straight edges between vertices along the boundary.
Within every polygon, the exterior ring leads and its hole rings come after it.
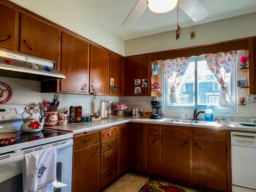
POLYGON ((110 168, 100 173, 100 188, 104 187, 110 181, 118 176, 118 164, 114 164, 110 168))

